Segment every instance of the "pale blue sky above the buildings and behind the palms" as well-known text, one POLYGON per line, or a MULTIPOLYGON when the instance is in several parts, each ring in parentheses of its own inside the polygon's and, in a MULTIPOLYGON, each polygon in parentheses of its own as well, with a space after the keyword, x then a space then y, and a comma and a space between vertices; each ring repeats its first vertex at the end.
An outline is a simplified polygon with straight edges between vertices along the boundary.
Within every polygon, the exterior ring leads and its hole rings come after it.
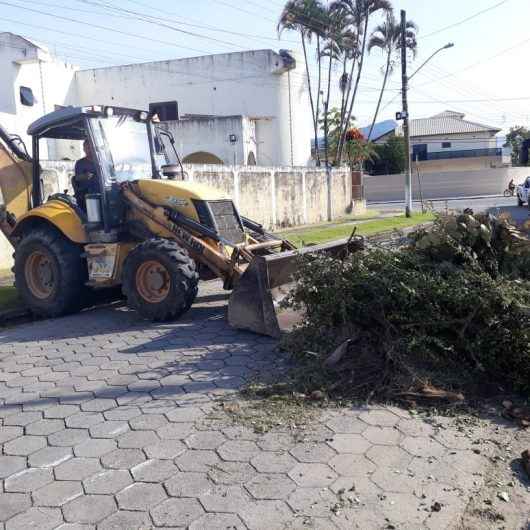
MULTIPOLYGON (((420 28, 419 53, 410 71, 437 48, 455 43, 415 76, 409 98, 412 117, 452 109, 503 129, 530 125, 529 0, 393 3, 397 16, 406 9, 420 28), (477 14, 482 10, 487 11, 477 14), (473 18, 465 21, 468 17, 473 18)), ((245 49, 299 49, 294 33, 278 40, 276 21, 282 6, 281 0, 0 0, 0 30, 41 41, 84 68, 245 49), (95 4, 162 17, 179 31, 124 12, 111 14, 95 4)), ((354 110, 361 126, 373 115, 381 64, 377 52, 368 58, 354 110)), ((338 75, 333 73, 332 82, 338 75)), ((400 110, 399 84, 397 68, 380 119, 400 110)))

